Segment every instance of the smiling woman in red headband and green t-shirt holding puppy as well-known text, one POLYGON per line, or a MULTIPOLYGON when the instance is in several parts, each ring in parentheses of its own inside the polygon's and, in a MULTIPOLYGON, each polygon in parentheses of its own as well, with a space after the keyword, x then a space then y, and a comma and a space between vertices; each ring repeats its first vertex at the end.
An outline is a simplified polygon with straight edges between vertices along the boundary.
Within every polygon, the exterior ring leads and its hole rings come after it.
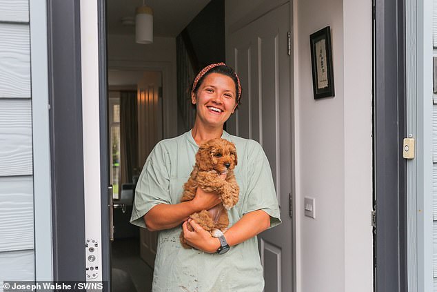
POLYGON ((136 186, 132 224, 160 231, 153 291, 263 291, 256 235, 281 220, 263 148, 223 130, 240 101, 240 81, 229 66, 211 64, 194 79, 191 96, 196 105, 192 130, 156 144, 136 186), (180 202, 199 145, 216 137, 236 146, 238 165, 234 173, 240 187, 238 203, 228 211, 230 228, 221 238, 212 237, 188 220, 192 213, 219 204, 216 194, 198 188, 192 201, 180 202), (187 224, 194 231, 189 231, 187 224), (185 240, 195 249, 182 248, 181 228, 185 240))

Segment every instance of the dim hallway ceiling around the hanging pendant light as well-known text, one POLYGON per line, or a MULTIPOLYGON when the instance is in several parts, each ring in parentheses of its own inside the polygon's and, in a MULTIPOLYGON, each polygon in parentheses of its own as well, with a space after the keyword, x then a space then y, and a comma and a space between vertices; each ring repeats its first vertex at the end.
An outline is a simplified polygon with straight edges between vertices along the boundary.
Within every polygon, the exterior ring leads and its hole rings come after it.
MULTIPOLYGON (((153 10, 153 30, 156 37, 176 37, 210 0, 145 0, 153 10)), ((135 8, 143 0, 108 0, 108 34, 134 35, 134 26, 123 26, 123 17, 135 17, 135 8)), ((134 20, 134 19, 133 19, 134 20)))

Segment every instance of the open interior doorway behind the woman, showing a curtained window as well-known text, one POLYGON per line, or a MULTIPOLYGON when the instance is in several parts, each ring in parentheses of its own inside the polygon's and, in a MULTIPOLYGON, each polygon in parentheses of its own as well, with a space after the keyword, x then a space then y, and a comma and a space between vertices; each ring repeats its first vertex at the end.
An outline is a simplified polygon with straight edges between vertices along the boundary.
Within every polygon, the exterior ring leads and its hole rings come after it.
POLYGON ((151 291, 156 240, 153 233, 130 224, 130 214, 145 158, 163 139, 162 72, 109 68, 108 87, 112 287, 113 291, 151 291))

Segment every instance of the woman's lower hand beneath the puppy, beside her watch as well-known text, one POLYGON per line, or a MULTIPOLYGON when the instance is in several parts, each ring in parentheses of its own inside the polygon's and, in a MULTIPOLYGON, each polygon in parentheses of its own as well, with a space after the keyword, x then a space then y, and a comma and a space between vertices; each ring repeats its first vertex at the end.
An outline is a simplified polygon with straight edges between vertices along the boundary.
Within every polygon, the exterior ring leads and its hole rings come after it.
POLYGON ((212 237, 212 235, 205 231, 199 224, 197 224, 194 220, 188 219, 182 224, 183 229, 183 237, 187 244, 193 246, 199 251, 204 251, 205 253, 215 253, 217 249, 220 247, 219 239, 216 237, 212 237), (190 224, 193 231, 188 230, 187 224, 190 224))

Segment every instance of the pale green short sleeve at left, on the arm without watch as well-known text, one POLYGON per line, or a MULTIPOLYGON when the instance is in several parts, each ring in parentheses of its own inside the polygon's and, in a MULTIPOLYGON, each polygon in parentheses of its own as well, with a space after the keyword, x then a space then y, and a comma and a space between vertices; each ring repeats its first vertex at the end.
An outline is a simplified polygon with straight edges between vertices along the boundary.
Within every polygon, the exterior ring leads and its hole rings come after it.
POLYGON ((157 204, 171 204, 170 159, 162 144, 156 144, 143 166, 135 188, 130 223, 145 228, 143 216, 157 204))

